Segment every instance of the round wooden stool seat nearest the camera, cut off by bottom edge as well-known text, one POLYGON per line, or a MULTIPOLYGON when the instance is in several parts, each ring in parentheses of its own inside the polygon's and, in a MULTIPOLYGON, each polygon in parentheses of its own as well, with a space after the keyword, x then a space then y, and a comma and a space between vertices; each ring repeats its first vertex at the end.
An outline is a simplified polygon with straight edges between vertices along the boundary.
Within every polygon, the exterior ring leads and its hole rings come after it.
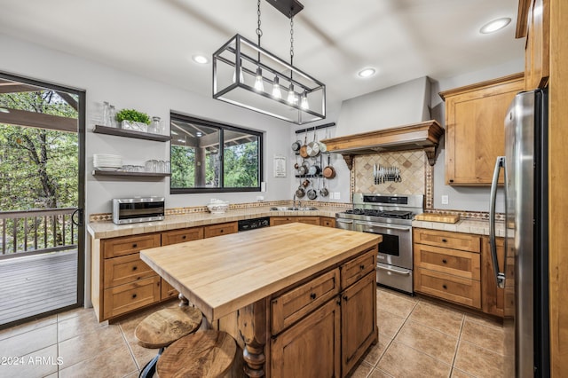
POLYGON ((220 378, 231 374, 237 344, 223 331, 206 330, 172 343, 158 360, 160 378, 220 378))

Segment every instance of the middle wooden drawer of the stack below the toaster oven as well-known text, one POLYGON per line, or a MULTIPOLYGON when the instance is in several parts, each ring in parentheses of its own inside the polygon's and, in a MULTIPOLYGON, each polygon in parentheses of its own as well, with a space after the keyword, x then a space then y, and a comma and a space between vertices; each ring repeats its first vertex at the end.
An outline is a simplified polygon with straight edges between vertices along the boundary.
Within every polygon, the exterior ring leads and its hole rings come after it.
POLYGON ((123 285, 155 275, 156 272, 140 260, 139 253, 107 258, 105 260, 105 288, 123 285))

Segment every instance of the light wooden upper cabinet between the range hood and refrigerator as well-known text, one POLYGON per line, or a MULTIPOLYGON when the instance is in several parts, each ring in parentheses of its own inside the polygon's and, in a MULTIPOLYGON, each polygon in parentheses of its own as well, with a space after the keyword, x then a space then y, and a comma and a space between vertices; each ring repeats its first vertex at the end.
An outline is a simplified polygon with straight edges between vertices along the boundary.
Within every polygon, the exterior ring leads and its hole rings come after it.
POLYGON ((524 89, 520 73, 440 92, 446 101, 446 185, 491 185, 495 160, 505 154, 505 115, 524 89))

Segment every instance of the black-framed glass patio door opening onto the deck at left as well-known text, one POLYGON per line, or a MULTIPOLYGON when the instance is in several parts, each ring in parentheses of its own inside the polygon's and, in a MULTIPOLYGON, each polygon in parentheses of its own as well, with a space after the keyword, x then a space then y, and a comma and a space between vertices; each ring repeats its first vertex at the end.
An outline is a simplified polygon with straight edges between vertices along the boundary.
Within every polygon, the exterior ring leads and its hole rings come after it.
POLYGON ((85 93, 0 72, 0 328, 83 304, 85 93))

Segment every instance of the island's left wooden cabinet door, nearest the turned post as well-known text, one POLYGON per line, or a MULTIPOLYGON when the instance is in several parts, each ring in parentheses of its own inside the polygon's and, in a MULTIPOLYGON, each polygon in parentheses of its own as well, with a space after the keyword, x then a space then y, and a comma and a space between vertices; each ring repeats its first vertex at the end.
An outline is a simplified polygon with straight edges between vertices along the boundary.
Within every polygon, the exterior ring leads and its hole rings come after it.
POLYGON ((341 376, 340 325, 341 307, 335 298, 272 337, 271 377, 341 376))

